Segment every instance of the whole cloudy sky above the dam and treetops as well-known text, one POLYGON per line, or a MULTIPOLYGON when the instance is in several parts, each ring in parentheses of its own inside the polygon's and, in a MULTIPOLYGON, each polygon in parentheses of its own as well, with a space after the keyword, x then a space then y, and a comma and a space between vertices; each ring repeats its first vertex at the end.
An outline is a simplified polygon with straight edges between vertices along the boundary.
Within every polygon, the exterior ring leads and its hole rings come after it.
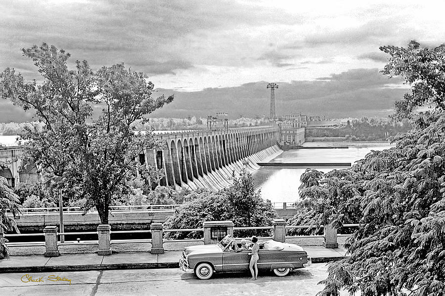
MULTIPOLYGON (((20 49, 54 44, 69 66, 124 62, 175 95, 153 116, 386 116, 407 91, 379 46, 445 41, 439 1, 0 1, 0 71, 42 78, 20 49)), ((0 121, 30 118, 0 101, 0 121)))

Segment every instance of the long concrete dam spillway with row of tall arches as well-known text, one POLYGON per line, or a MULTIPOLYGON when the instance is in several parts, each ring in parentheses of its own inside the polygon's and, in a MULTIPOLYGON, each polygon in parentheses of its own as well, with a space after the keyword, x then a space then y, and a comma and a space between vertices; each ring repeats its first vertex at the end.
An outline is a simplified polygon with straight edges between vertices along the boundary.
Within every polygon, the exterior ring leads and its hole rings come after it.
POLYGON ((282 152, 277 146, 279 128, 273 126, 168 132, 156 138, 164 147, 145 150, 139 159, 163 169, 160 185, 175 189, 222 189, 230 185, 228 179, 241 171, 244 161, 252 172, 260 168, 258 162, 282 152))

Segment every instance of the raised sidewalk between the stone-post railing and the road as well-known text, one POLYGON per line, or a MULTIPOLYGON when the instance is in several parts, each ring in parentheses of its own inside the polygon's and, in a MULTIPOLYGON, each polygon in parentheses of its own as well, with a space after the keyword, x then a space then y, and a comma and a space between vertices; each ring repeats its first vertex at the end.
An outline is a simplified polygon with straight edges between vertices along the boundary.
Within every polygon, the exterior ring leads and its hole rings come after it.
MULTIPOLYGON (((305 247, 312 263, 329 262, 344 258, 343 248, 325 249, 305 247)), ((115 253, 111 256, 97 254, 67 254, 59 257, 11 256, 0 260, 0 273, 5 272, 49 272, 104 269, 178 268, 181 251, 167 251, 164 254, 147 252, 115 253)))

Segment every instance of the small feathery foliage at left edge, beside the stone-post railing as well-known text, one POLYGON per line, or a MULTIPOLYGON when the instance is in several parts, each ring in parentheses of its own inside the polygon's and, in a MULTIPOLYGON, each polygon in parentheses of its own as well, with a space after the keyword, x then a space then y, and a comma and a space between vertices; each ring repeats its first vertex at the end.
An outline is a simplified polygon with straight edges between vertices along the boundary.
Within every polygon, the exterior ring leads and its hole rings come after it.
MULTIPOLYGON (((17 214, 21 214, 18 196, 8 187, 6 178, 0 176, 0 232, 15 230, 20 233, 14 220, 17 214), (7 210, 12 213, 12 217, 6 215, 7 210)), ((7 241, 5 238, 0 238, 0 259, 9 258, 7 241)))

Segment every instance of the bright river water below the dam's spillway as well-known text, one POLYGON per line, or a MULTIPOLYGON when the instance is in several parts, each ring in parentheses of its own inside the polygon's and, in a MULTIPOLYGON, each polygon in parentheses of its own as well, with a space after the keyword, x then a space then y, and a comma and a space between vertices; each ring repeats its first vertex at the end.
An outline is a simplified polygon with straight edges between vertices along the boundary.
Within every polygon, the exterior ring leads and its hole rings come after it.
MULTIPOLYGON (((298 149, 284 151, 270 162, 351 162, 363 158, 371 150, 391 148, 389 143, 375 142, 308 142, 305 147, 349 146, 347 149, 298 149)), ((313 167, 328 172, 341 167, 313 167)), ((254 173, 261 195, 271 202, 295 202, 299 200, 300 177, 306 168, 262 167, 254 173)))

